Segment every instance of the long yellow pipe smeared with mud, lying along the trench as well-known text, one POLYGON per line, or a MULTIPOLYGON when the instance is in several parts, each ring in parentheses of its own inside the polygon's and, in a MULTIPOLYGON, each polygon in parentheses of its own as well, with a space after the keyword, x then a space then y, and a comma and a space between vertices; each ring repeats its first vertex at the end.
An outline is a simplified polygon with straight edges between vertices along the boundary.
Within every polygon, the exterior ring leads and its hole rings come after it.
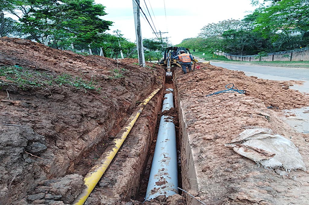
POLYGON ((146 104, 151 100, 155 94, 162 88, 162 86, 155 91, 153 91, 148 98, 146 98, 139 106, 136 108, 136 111, 130 116, 129 120, 125 123, 119 133, 116 135, 114 140, 112 141, 111 150, 106 150, 98 160, 100 164, 95 165, 91 168, 88 172, 86 177, 84 178, 85 185, 87 186, 81 194, 79 194, 78 198, 75 199, 74 205, 83 205, 87 200, 88 196, 95 188, 95 185, 99 182, 102 175, 108 168, 109 164, 114 159, 116 153, 118 152, 119 148, 121 147, 122 143, 125 141, 125 138, 128 136, 129 132, 131 131, 134 123, 138 119, 138 116, 141 114, 142 110, 146 106, 146 104))

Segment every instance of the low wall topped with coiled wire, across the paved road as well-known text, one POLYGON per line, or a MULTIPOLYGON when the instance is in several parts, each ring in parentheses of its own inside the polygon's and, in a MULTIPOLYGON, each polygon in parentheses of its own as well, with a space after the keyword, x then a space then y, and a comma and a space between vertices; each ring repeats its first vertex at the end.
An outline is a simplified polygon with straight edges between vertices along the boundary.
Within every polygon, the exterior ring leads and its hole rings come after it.
POLYGON ((265 57, 261 57, 260 55, 231 55, 220 52, 216 52, 215 54, 225 56, 227 59, 239 61, 309 61, 309 47, 268 53, 265 57))

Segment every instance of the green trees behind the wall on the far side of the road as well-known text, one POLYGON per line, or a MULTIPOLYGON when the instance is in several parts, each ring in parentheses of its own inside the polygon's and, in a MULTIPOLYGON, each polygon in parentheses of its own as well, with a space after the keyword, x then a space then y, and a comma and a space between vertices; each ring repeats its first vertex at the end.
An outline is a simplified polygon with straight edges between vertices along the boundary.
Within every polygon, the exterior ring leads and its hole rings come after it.
POLYGON ((242 20, 223 20, 201 28, 179 46, 236 55, 293 50, 309 45, 308 0, 252 0, 259 7, 242 20))

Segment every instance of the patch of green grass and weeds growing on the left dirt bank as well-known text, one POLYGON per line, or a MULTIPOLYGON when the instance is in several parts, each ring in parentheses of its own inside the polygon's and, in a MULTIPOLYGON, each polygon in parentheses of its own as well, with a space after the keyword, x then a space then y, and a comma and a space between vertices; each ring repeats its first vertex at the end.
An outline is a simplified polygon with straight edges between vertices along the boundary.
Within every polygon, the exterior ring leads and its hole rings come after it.
POLYGON ((45 72, 39 72, 22 68, 20 66, 3 66, 0 67, 0 76, 5 76, 6 80, 0 80, 0 87, 6 85, 15 85, 23 90, 33 89, 37 87, 47 88, 48 86, 71 85, 77 89, 99 90, 95 87, 95 81, 84 81, 79 77, 72 77, 68 74, 50 75, 45 72))

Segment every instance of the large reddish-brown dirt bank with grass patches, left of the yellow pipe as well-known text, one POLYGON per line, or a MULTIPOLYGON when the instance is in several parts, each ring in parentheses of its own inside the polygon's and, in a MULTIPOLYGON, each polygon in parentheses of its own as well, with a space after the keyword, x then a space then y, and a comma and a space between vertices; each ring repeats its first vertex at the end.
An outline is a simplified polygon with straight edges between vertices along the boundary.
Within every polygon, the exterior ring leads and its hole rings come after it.
MULTIPOLYGON (((37 194, 41 181, 74 173, 82 156, 109 142, 163 78, 152 63, 141 68, 131 59, 83 56, 23 39, 2 37, 0 44, 1 204, 18 204, 37 194)), ((57 196, 51 189, 46 194, 57 196)))

